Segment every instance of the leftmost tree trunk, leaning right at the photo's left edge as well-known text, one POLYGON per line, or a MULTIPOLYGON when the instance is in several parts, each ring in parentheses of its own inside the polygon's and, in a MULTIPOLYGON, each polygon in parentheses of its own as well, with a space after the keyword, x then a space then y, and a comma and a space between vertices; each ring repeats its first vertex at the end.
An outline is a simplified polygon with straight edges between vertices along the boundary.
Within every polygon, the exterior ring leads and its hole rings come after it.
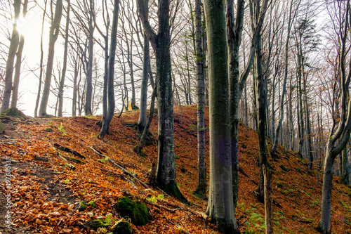
POLYGON ((0 113, 7 110, 10 106, 10 98, 12 91, 12 76, 13 76, 13 63, 16 56, 16 51, 19 43, 19 34, 17 30, 17 20, 20 17, 20 6, 21 1, 15 0, 13 7, 15 8, 15 23, 13 24, 13 30, 11 35, 10 47, 8 48, 8 58, 6 61, 6 72, 5 72, 5 88, 4 96, 2 97, 0 113))

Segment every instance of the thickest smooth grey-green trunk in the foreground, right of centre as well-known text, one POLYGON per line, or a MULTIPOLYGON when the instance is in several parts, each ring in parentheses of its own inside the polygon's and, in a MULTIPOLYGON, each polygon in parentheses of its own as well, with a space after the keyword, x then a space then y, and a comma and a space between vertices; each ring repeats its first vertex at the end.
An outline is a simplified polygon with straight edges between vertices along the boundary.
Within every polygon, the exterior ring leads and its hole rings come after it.
MULTIPOLYGON (((228 4, 227 4, 228 6, 228 4)), ((231 4, 232 6, 232 4, 231 4)), ((239 233, 234 218, 233 162, 223 1, 204 1, 210 93, 210 187, 206 214, 222 233, 239 233)), ((232 9, 231 9, 232 10, 232 9)), ((231 29, 232 30, 232 29, 231 29)), ((229 61, 228 61, 229 62, 229 61)), ((235 196, 236 197, 236 196, 235 196)))

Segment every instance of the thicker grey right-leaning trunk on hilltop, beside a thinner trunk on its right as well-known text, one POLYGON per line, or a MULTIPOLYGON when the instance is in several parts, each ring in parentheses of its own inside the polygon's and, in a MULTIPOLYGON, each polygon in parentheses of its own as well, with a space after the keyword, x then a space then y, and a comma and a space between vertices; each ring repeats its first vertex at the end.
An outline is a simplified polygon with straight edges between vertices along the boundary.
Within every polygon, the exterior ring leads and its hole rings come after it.
POLYGON ((41 98, 39 116, 46 116, 46 108, 48 106, 48 96, 50 94, 51 76, 53 72, 53 56, 55 53, 55 41, 58 39, 60 31, 60 21, 62 16, 62 0, 56 1, 55 16, 50 27, 50 37, 48 44, 48 62, 46 65, 46 75, 44 82, 43 96, 41 98))

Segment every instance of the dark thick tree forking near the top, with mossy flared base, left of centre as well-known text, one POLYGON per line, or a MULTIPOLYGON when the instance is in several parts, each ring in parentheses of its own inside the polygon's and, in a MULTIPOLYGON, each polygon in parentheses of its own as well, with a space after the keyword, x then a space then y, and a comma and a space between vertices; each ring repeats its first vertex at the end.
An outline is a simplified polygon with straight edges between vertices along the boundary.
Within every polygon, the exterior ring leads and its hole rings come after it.
POLYGON ((176 159, 173 138, 173 91, 171 76, 171 34, 169 18, 169 0, 158 2, 158 32, 152 30, 144 0, 138 0, 138 13, 147 37, 156 56, 157 69, 157 107, 158 107, 158 162, 157 186, 166 193, 186 201, 176 183, 176 159))

